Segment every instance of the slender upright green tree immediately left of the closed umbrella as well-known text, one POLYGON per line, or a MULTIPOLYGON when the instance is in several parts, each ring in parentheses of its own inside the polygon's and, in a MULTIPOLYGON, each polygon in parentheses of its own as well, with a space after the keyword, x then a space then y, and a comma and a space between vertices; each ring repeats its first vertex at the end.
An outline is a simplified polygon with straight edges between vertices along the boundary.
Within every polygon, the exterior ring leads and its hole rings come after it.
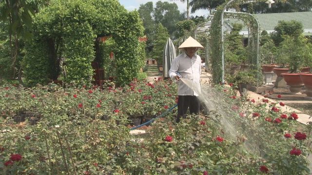
POLYGON ((152 58, 156 59, 158 65, 162 64, 162 54, 168 38, 167 29, 159 23, 156 30, 155 46, 151 54, 152 58))

